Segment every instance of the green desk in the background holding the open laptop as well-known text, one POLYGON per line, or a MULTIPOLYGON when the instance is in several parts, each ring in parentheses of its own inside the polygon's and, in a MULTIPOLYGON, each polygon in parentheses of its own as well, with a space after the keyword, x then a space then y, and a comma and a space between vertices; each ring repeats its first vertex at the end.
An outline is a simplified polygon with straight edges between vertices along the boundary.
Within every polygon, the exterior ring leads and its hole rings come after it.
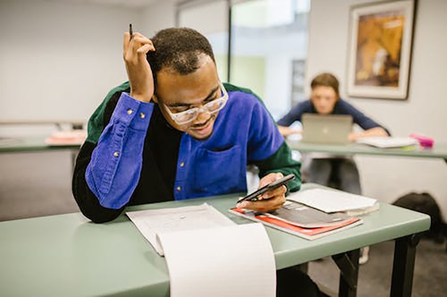
POLYGON ((329 145, 302 143, 300 141, 287 140, 293 150, 300 153, 329 153, 334 155, 378 155, 378 156, 398 156, 398 157, 421 157, 421 158, 441 158, 447 159, 447 143, 435 143, 433 148, 376 148, 365 144, 351 143, 348 145, 329 145))

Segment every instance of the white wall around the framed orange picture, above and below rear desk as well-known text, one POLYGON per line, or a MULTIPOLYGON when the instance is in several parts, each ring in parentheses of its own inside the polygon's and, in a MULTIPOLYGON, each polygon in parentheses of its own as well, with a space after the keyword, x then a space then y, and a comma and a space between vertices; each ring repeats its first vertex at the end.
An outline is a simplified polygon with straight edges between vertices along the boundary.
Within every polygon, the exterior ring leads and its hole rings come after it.
MULTIPOLYGON (((349 9, 371 0, 312 0, 307 84, 330 71, 346 98, 349 9)), ((417 132, 447 143, 447 1, 419 0, 407 101, 348 98, 356 107, 386 125, 394 135, 417 132)), ((409 191, 429 191, 447 218, 447 163, 443 160, 366 157, 356 160, 364 194, 391 202, 409 191)))

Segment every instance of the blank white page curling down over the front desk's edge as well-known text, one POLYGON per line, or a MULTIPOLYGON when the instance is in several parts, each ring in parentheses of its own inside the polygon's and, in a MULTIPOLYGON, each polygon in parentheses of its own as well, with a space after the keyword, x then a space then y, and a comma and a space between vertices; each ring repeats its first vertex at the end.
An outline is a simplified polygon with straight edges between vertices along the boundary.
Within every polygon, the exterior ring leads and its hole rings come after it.
POLYGON ((159 235, 171 297, 274 297, 276 268, 262 224, 159 235))

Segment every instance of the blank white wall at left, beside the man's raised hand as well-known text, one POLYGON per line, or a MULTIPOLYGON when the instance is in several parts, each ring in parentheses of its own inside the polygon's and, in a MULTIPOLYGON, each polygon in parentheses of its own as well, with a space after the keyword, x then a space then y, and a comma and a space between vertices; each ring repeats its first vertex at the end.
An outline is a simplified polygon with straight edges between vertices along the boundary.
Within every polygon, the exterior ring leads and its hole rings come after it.
POLYGON ((122 35, 137 9, 0 1, 0 119, 86 120, 127 80, 122 35))

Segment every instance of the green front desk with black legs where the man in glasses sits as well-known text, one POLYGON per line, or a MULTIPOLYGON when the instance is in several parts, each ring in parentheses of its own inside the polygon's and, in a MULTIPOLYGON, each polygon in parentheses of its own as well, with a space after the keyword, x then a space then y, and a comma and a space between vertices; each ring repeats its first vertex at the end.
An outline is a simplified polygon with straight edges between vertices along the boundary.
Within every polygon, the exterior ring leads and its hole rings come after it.
MULTIPOLYGON (((305 184, 303 189, 317 187, 305 184)), ((237 195, 139 205, 130 210, 207 202, 238 224, 250 221, 227 213, 237 195)), ((415 234, 428 230, 430 217, 381 204, 365 223, 309 241, 266 228, 277 269, 332 255, 342 268, 340 296, 355 296, 359 248, 396 239, 392 296, 410 296, 415 234)), ((165 259, 122 215, 106 224, 80 213, 0 222, 0 296, 168 296, 165 259)))

